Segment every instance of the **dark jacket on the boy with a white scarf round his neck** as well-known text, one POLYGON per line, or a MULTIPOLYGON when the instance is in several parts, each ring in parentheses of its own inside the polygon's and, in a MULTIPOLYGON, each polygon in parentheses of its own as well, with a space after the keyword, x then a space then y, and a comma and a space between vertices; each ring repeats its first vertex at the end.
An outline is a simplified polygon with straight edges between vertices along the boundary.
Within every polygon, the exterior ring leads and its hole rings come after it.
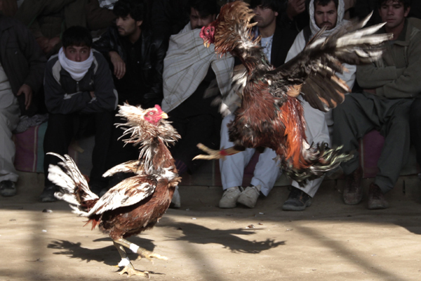
POLYGON ((118 97, 107 61, 95 50, 93 55, 93 63, 80 81, 74 80, 61 67, 58 55, 48 60, 44 81, 48 112, 65 115, 116 109, 118 97), (91 91, 94 91, 95 98, 91 98, 91 91))

